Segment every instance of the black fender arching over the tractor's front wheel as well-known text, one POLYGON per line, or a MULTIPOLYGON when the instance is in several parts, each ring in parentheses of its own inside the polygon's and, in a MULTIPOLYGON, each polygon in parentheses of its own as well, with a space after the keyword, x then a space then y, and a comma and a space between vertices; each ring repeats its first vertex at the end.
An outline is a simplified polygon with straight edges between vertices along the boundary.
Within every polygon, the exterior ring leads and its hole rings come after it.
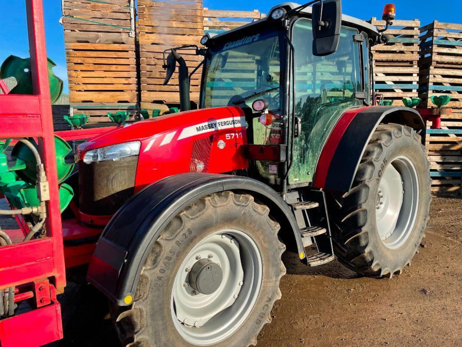
POLYGON ((178 174, 147 186, 117 211, 97 243, 87 280, 116 304, 131 304, 124 299, 135 296, 141 268, 162 230, 189 204, 224 191, 248 193, 266 204, 280 233, 293 232, 298 254, 304 253, 292 210, 269 186, 240 176, 178 174))

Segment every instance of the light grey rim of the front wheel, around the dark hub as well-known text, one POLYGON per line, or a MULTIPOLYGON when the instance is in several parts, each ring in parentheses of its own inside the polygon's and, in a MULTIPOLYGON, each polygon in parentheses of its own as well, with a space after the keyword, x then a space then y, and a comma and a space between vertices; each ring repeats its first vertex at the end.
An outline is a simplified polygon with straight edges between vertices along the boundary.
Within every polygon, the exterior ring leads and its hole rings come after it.
POLYGON ((195 346, 213 345, 231 336, 254 308, 262 274, 260 250, 247 233, 223 229, 202 239, 183 260, 172 287, 170 310, 177 332, 195 346), (204 259, 222 271, 221 283, 212 294, 201 293, 189 283, 189 274, 204 259))

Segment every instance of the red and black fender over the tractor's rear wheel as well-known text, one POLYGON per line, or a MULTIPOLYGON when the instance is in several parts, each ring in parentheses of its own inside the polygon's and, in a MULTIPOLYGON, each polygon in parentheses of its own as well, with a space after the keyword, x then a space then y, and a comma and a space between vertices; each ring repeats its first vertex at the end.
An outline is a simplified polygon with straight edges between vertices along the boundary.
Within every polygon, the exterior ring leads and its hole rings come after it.
POLYGON ((313 186, 348 192, 366 146, 381 123, 403 124, 420 131, 425 144, 425 122, 412 108, 371 106, 347 110, 335 124, 321 151, 313 186))

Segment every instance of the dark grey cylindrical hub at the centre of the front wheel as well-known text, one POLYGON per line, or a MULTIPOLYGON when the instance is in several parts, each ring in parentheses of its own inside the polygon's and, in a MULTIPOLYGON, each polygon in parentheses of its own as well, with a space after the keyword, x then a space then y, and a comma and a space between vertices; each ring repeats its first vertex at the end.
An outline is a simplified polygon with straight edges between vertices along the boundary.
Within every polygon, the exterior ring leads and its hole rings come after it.
POLYGON ((209 259, 197 260, 189 272, 189 284, 201 294, 213 294, 221 285, 223 270, 209 259))

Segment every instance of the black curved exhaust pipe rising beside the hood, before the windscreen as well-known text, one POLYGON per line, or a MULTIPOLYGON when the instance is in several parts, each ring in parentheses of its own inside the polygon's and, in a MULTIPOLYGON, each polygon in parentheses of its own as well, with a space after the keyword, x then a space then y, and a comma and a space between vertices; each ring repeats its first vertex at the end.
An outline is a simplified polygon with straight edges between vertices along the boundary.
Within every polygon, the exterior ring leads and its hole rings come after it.
POLYGON ((180 87, 180 110, 189 111, 191 110, 191 102, 189 100, 189 72, 188 66, 184 61, 183 57, 172 49, 171 53, 167 57, 167 65, 164 68, 167 70, 167 76, 165 77, 164 86, 170 81, 171 76, 175 72, 176 62, 178 62, 178 84, 180 87))

